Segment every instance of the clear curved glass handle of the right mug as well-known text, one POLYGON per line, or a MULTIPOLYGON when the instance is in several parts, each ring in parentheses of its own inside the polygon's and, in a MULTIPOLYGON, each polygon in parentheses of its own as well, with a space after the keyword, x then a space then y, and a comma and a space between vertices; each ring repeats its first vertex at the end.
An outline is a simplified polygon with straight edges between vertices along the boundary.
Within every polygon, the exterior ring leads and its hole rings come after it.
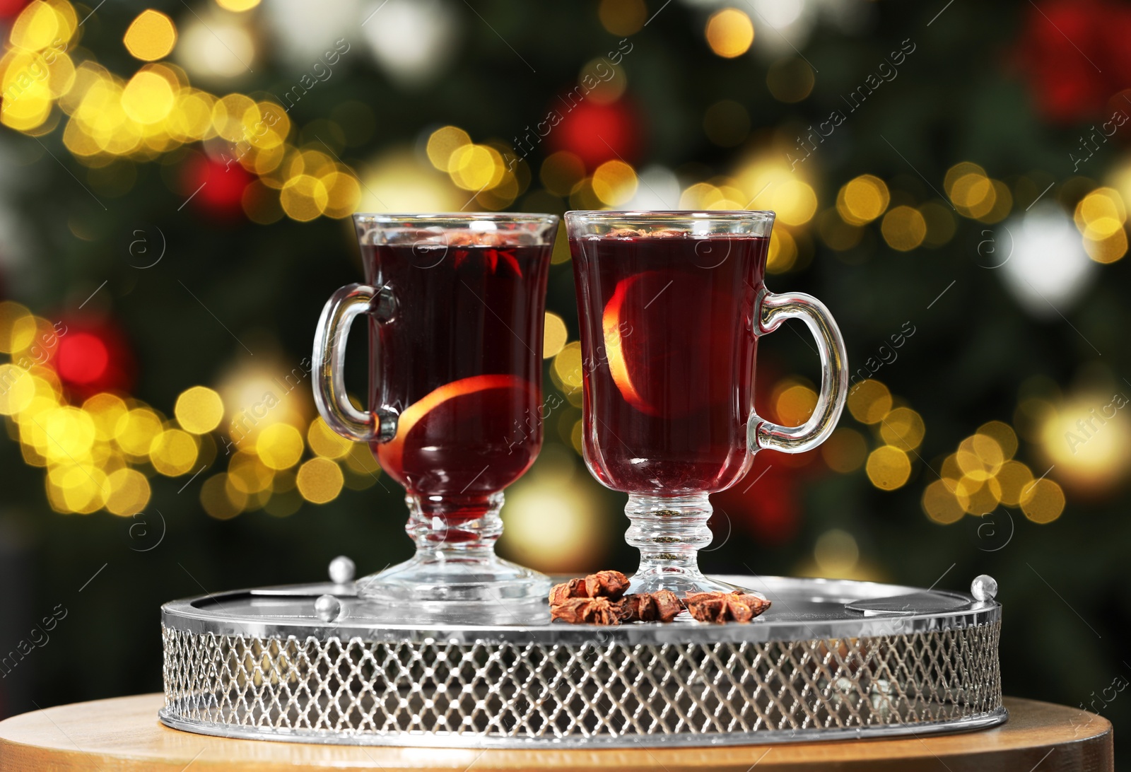
POLYGON ((754 301, 756 335, 772 333, 786 319, 801 319, 817 341, 821 358, 821 394, 813 414, 800 427, 771 423, 754 412, 746 423, 746 444, 751 453, 763 448, 782 453, 804 453, 828 439, 840 419, 848 396, 848 357, 840 329, 829 309, 804 292, 775 294, 762 290, 754 301))

